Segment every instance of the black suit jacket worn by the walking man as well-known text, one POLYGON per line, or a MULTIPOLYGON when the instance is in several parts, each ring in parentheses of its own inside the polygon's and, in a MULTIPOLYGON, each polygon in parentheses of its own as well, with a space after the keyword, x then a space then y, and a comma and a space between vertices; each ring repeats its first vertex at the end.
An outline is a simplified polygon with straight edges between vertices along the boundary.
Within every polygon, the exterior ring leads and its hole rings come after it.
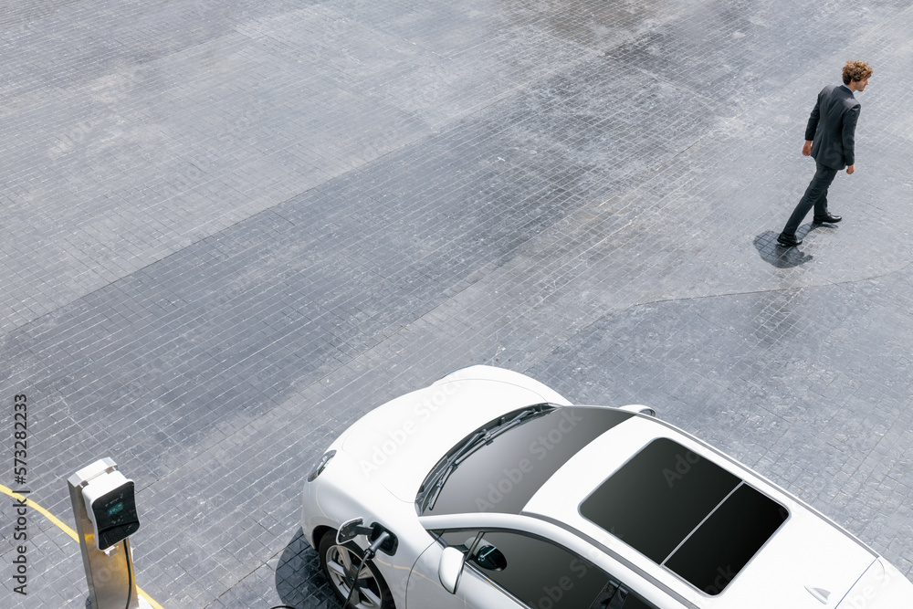
POLYGON ((805 127, 805 140, 812 141, 815 161, 836 170, 855 164, 855 123, 861 108, 846 87, 821 89, 805 127))

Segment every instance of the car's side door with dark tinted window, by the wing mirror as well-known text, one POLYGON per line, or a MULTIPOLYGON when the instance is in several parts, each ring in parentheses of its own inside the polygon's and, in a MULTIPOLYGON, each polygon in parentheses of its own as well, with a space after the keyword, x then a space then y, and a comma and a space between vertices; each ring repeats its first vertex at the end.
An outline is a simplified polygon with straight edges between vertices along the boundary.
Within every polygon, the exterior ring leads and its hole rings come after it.
MULTIPOLYGON (((473 609, 655 609, 592 562, 540 537, 516 530, 442 530, 436 533, 443 544, 456 547, 467 557, 456 590, 458 602, 462 604, 454 606, 473 609)), ((439 557, 443 545, 435 546, 439 557)), ((438 588, 446 593, 439 583, 438 588)))

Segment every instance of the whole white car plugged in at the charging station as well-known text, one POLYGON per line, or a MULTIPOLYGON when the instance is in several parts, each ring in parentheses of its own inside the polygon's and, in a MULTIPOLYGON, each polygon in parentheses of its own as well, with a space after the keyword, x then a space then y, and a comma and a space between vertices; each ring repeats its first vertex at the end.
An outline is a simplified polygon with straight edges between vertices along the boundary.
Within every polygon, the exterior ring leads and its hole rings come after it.
POLYGON ((303 511, 360 609, 913 608, 876 551, 645 406, 489 366, 363 416, 303 511))

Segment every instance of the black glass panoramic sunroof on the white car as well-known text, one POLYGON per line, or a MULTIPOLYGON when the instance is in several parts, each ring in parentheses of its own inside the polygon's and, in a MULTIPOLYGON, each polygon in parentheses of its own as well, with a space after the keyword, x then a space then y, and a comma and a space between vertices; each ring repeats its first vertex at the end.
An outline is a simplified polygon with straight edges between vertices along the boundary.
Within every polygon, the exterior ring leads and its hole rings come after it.
POLYGON ((580 511, 708 594, 721 593, 789 516, 739 477, 667 438, 645 446, 580 511))

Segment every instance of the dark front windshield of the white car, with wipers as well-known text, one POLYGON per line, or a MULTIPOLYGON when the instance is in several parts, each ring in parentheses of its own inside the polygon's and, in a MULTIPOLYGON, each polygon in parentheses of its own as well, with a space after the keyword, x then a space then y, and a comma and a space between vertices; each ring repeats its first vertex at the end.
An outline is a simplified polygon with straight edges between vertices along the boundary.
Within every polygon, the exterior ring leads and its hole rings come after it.
POLYGON ((418 513, 519 513, 583 446, 631 416, 610 408, 548 404, 500 416, 431 470, 415 501, 418 513))

